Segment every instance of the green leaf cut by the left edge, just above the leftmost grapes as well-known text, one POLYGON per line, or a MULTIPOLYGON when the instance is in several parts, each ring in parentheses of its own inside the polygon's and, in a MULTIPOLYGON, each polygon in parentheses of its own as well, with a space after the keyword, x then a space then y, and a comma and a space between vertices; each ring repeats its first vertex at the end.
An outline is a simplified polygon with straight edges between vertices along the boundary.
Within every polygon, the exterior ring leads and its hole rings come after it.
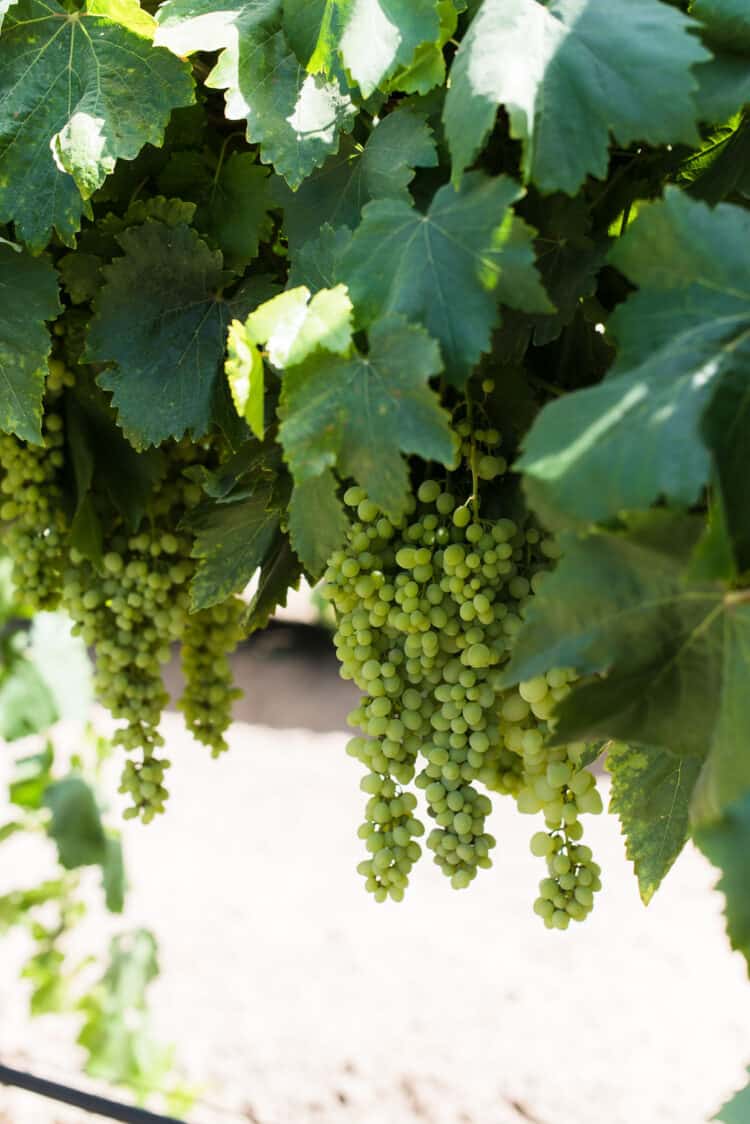
POLYGON ((35 444, 52 347, 45 320, 60 311, 51 262, 0 245, 0 429, 35 444))

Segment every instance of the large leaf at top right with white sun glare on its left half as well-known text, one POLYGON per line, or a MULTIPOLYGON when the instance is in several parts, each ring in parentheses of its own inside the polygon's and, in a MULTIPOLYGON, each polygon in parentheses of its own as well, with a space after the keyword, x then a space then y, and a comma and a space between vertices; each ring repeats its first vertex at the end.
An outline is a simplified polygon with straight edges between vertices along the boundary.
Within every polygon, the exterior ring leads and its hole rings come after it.
POLYGON ((690 67, 697 27, 660 0, 484 0, 451 67, 445 134, 458 182, 499 106, 523 143, 523 174, 575 194, 618 144, 698 142, 690 67), (613 49, 616 44, 616 49, 613 49))

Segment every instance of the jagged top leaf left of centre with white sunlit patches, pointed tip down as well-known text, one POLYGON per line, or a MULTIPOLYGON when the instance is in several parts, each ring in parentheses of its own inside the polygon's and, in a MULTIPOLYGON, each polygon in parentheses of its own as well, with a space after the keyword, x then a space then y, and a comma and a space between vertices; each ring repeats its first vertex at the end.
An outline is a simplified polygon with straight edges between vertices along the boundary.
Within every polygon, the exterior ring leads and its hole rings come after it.
POLYGON ((246 123, 247 140, 297 188, 338 146, 355 108, 336 79, 307 74, 280 26, 281 0, 166 0, 155 43, 179 55, 222 51, 206 84, 226 90, 226 115, 246 123))

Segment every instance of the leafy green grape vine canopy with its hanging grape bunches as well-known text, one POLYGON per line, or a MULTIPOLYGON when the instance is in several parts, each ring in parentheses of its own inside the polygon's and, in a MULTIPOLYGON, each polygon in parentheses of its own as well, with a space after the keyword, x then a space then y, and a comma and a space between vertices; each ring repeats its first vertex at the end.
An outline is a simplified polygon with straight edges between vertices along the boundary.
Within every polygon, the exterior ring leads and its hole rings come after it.
POLYGON ((0 3, 0 535, 127 814, 178 649, 220 756, 324 578, 376 899, 423 846, 468 887, 507 797, 566 928, 608 794, 643 900, 694 839, 750 958, 750 10, 262 7, 0 3))

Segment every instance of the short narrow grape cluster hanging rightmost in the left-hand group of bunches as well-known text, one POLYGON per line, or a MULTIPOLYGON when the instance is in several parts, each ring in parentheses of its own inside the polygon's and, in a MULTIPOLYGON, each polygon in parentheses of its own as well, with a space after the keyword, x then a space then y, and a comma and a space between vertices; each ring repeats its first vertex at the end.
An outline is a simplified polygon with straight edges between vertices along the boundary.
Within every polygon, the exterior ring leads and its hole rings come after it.
POLYGON ((187 617, 181 634, 184 690, 180 709, 192 736, 218 756, 232 720, 232 704, 242 691, 233 686, 229 656, 242 638, 245 605, 238 597, 187 617))

